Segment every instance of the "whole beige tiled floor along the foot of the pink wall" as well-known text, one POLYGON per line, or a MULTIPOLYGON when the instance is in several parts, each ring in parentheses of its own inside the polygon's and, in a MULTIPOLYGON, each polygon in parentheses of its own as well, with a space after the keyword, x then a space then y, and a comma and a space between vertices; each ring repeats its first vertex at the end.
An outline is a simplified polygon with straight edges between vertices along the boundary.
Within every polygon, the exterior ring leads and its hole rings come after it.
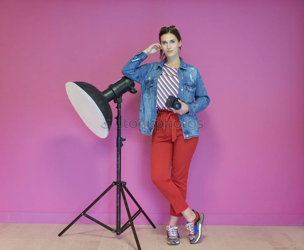
MULTIPOLYGON (((116 250, 137 249, 131 227, 116 235, 98 224, 74 224, 62 236, 67 224, 0 223, 0 250, 116 250)), ((109 225, 115 228, 116 225, 109 225)), ((190 245, 188 231, 178 225, 179 245, 167 245, 166 226, 135 225, 143 250, 304 250, 303 226, 202 226, 202 237, 190 245)))

